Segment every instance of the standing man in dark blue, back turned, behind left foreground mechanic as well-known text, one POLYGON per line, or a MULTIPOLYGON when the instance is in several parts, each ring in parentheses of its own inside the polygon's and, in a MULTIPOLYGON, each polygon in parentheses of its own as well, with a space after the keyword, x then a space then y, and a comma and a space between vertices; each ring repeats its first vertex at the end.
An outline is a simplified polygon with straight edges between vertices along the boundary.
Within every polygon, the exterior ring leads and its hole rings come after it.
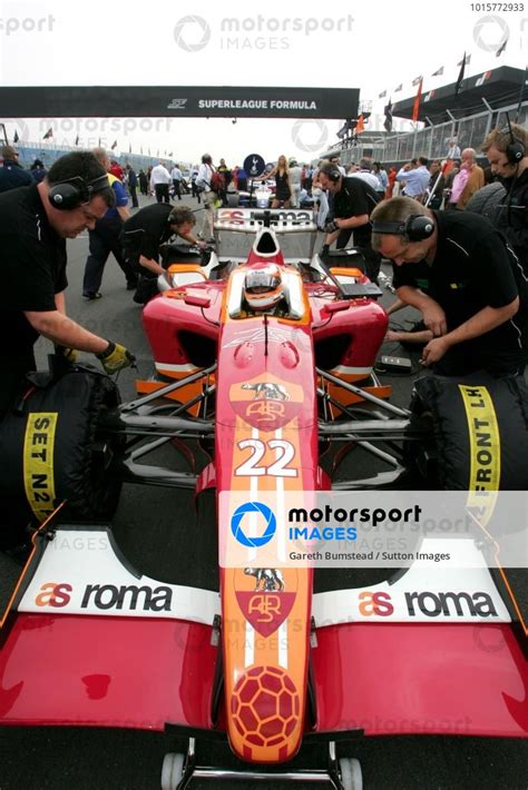
MULTIPOLYGON (((108 172, 110 162, 105 149, 95 148, 92 154, 97 161, 108 172)), ((127 208, 127 192, 117 176, 114 176, 110 172, 108 172, 108 182, 115 195, 115 205, 107 210, 104 217, 97 219, 94 228, 88 230, 90 238, 90 254, 85 266, 82 296, 85 299, 90 302, 94 299, 100 299, 101 297, 99 288, 102 282, 105 265, 110 253, 113 253, 126 277, 128 290, 135 289, 137 286, 137 277, 125 260, 119 240, 123 223, 130 216, 127 208)))

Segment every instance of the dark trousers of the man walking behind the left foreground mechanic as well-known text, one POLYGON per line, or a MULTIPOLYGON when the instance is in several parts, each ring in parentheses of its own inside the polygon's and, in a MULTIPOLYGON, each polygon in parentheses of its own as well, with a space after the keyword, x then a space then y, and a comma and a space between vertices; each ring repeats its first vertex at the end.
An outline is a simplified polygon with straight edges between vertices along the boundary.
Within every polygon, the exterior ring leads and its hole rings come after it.
POLYGON ((99 219, 94 230, 89 230, 90 254, 86 261, 85 278, 82 280, 84 294, 97 294, 102 280, 102 271, 110 253, 116 258, 126 280, 133 285, 137 280, 130 264, 123 254, 119 235, 123 229, 120 219, 99 219))

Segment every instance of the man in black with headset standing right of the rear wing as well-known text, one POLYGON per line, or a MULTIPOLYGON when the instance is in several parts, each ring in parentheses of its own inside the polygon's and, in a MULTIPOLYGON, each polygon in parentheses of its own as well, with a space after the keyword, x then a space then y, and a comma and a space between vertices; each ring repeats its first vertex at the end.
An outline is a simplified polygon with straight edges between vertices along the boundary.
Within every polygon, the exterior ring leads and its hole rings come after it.
POLYGON ((334 196, 334 219, 325 226, 326 238, 321 251, 325 257, 330 245, 336 240, 336 248, 343 249, 354 231, 354 246, 365 261, 365 274, 377 283, 380 274, 381 256, 372 249, 370 215, 380 198, 375 190, 361 178, 343 176, 341 170, 325 162, 319 170, 319 181, 323 189, 334 196))

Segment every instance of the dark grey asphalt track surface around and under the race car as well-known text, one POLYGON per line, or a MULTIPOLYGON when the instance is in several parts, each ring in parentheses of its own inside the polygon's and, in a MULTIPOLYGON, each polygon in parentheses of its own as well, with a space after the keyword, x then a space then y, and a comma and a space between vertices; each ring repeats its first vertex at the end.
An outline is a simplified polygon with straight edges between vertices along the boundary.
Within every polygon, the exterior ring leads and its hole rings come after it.
MULTIPOLYGON (((151 198, 141 198, 141 205, 150 201, 151 198)), ((188 198, 185 203, 195 205, 188 198)), ((104 297, 91 303, 81 298, 87 249, 87 235, 69 243, 68 313, 87 328, 124 343, 136 354, 138 371, 124 371, 119 376, 121 395, 129 399, 135 395, 135 378, 147 377, 151 372, 140 307, 131 302, 124 276, 111 256, 101 288, 104 297)), ((384 292, 383 304, 387 306, 391 299, 384 292)), ((395 316, 400 323, 407 317, 404 313, 395 316)), ((39 342, 39 362, 43 363, 49 349, 47 342, 39 342)), ((384 353, 399 352, 391 345, 384 353)), ((408 405, 413 377, 383 376, 384 382, 394 386, 394 403, 408 405)), ((182 574, 187 573, 193 563, 187 559, 187 569, 183 567, 183 530, 185 523, 193 524, 193 520, 190 495, 126 485, 114 529, 121 550, 136 566, 156 579, 185 583, 182 574)), ((204 586, 211 586, 208 569, 196 563, 192 572, 195 580, 202 579, 204 586)), ((18 567, 12 560, 0 555, 0 605, 6 602, 17 575, 18 567)), ((35 656, 36 672, 43 661, 46 655, 35 656)), ((177 745, 173 737, 144 731, 3 728, 0 729, 0 790, 156 790, 163 757, 167 751, 177 750, 177 745)), ((361 761, 365 790, 526 790, 527 752, 526 741, 516 739, 420 735, 360 739, 350 754, 361 761)), ((227 748, 218 749, 209 743, 203 744, 199 757, 202 764, 229 761, 227 748)), ((317 756, 312 749, 303 759, 313 761, 317 756)), ((193 790, 209 787, 235 786, 203 781, 190 784, 193 790)), ((271 781, 264 786, 237 782, 236 787, 278 789, 283 786, 271 781)), ((295 783, 295 787, 314 786, 295 783)))

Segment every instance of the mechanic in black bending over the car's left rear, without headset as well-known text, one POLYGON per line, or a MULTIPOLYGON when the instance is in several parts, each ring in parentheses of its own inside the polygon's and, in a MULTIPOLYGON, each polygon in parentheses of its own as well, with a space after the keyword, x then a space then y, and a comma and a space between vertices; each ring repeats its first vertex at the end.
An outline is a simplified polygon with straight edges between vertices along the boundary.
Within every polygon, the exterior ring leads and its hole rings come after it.
POLYGON ((195 224, 195 213, 188 206, 173 208, 165 203, 146 206, 127 219, 121 241, 129 265, 139 276, 134 302, 146 304, 158 293, 157 278, 165 274, 159 264, 159 247, 172 236, 180 236, 202 249, 207 246, 193 235, 195 224))

